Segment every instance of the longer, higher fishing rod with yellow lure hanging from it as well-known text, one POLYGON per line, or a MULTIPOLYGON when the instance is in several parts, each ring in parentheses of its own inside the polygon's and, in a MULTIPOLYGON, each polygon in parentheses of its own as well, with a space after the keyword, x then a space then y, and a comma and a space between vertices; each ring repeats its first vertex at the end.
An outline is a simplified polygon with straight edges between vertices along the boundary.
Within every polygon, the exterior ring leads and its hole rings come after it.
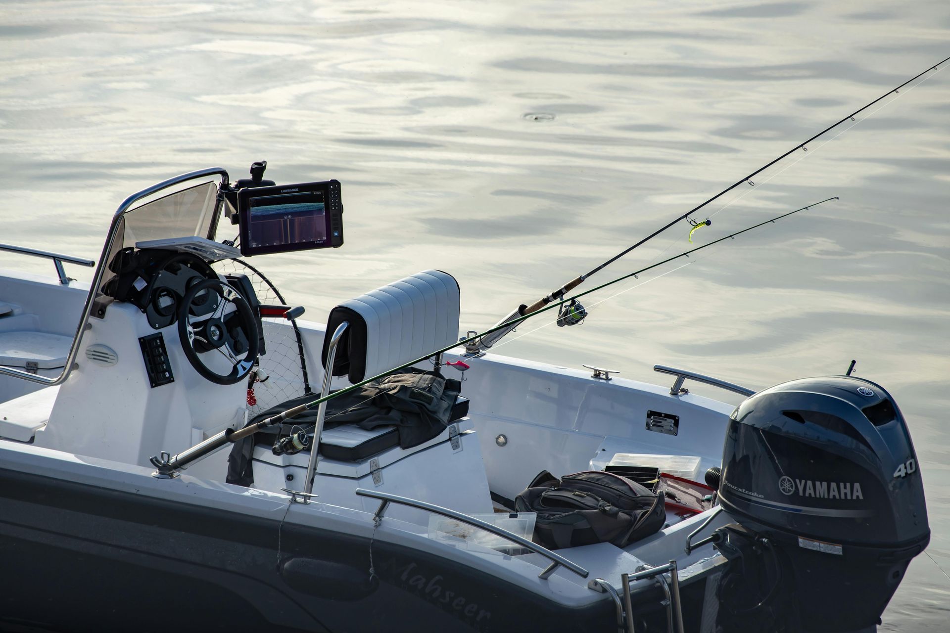
MULTIPOLYGON (((496 343, 497 343, 499 340, 501 340, 506 334, 508 334, 511 330, 513 330, 517 324, 519 324, 519 323, 522 322, 522 320, 520 320, 519 317, 522 317, 522 316, 524 316, 525 314, 530 314, 530 313, 532 313, 532 312, 536 312, 536 311, 540 310, 542 307, 547 306, 547 305, 550 304, 551 302, 560 300, 565 294, 567 294, 567 293, 570 292, 571 290, 573 290, 573 289, 577 288, 578 286, 580 286, 580 284, 581 284, 584 280, 586 280, 588 277, 590 277, 590 276, 593 275, 593 274, 596 274, 597 272, 599 272, 599 270, 603 270, 603 269, 607 268, 608 266, 610 266, 611 264, 613 264, 614 262, 616 262, 620 257, 623 257, 624 255, 626 255, 628 252, 637 249, 637 247, 639 247, 639 246, 643 245, 644 243, 648 242, 649 240, 653 239, 654 237, 656 237, 656 235, 659 235, 660 233, 665 232, 667 229, 669 229, 670 227, 674 226, 676 223, 678 223, 678 222, 680 222, 680 221, 682 221, 682 220, 684 220, 684 219, 688 219, 690 215, 692 215, 692 214, 694 214, 695 212, 699 211, 700 209, 702 209, 703 207, 705 207, 706 205, 708 205, 710 202, 712 202, 713 200, 718 199, 718 198, 721 197, 722 195, 728 194, 729 192, 731 192, 733 189, 735 189, 736 187, 738 187, 738 186, 741 185, 742 183, 748 182, 750 185, 752 185, 752 184, 753 184, 753 181, 752 181, 752 178, 753 178, 753 177, 756 177, 756 176, 758 176, 759 174, 761 174, 762 172, 764 172, 765 170, 769 169, 769 167, 771 167, 772 165, 774 165, 776 162, 779 162, 779 161, 782 160, 783 158, 788 157, 789 155, 793 154, 794 152, 798 151, 799 149, 804 149, 804 150, 807 152, 807 144, 810 143, 812 140, 816 140, 816 139, 818 139, 818 138, 824 136, 825 134, 827 134, 828 132, 830 132, 830 131, 833 130, 834 128, 838 127, 839 125, 841 125, 841 124, 844 123, 845 121, 848 121, 848 120, 854 121, 854 118, 855 118, 856 116, 858 116, 859 114, 861 114, 862 112, 864 112, 864 110, 866 110, 867 108, 871 107, 872 105, 874 105, 874 104, 877 103, 877 102, 880 102, 881 100, 883 100, 884 98, 886 98, 886 97, 887 97, 888 95, 890 95, 890 94, 897 94, 897 93, 899 93, 900 90, 901 90, 901 88, 902 88, 903 86, 905 86, 905 85, 907 85, 907 84, 910 84, 911 82, 914 82, 915 80, 920 79, 923 75, 925 75, 926 73, 930 72, 931 70, 934 70, 935 68, 937 68, 937 66, 939 66, 940 64, 943 64, 944 62, 947 62, 947 61, 950 61, 950 57, 947 57, 946 59, 944 59, 944 60, 938 62, 937 64, 930 66, 929 68, 927 68, 927 69, 924 70, 923 72, 921 72, 921 73, 915 75, 914 77, 911 77, 911 78, 908 79, 906 82, 904 82, 903 84, 900 84, 900 85, 897 86, 896 88, 893 88, 893 89, 891 89, 891 90, 888 90, 887 92, 885 92, 883 95, 881 95, 880 97, 878 97, 878 98, 875 99, 874 101, 869 102, 869 103, 867 103, 866 105, 864 105, 863 107, 861 107, 861 108, 855 110, 855 111, 852 112, 851 114, 847 115, 847 116, 846 116, 844 119, 842 119, 841 121, 838 121, 838 122, 836 122, 836 123, 834 123, 834 124, 832 124, 832 125, 827 126, 824 130, 822 130, 822 131, 819 132, 818 134, 814 135, 813 137, 811 137, 811 138, 809 138, 809 139, 807 139, 807 140, 803 140, 802 142, 798 143, 797 145, 795 145, 794 147, 792 147, 790 150, 788 150, 788 152, 786 152, 786 153, 783 154, 782 156, 780 156, 780 157, 778 157, 778 158, 775 158, 774 160, 769 161, 768 163, 766 163, 766 164, 763 165, 762 167, 759 167, 759 168, 756 169, 754 172, 752 172, 749 176, 742 177, 742 178, 736 180, 736 181, 735 181, 734 183, 732 183, 729 187, 727 187, 726 189, 723 189, 723 190, 722 190, 721 192, 719 192, 718 194, 713 195, 711 198, 709 198, 708 200, 706 200, 706 201, 703 202, 702 204, 696 205, 695 207, 693 207, 693 209, 691 209, 690 211, 686 212, 685 214, 682 214, 682 215, 679 215, 679 216, 675 217, 673 220, 671 220, 670 222, 668 222, 666 225, 664 225, 664 226, 661 227, 660 229, 657 229, 654 233, 650 233, 649 235, 647 235, 646 237, 644 237, 643 239, 641 239, 640 241, 638 241, 638 242, 637 242, 636 244, 634 244, 633 246, 630 246, 630 247, 624 249, 623 251, 618 252, 616 255, 614 255, 613 257, 611 257, 611 258, 608 259, 607 261, 603 262, 603 263, 600 264, 599 266, 597 266, 597 267, 595 267, 595 268, 593 268, 593 269, 591 269, 591 270, 588 270, 587 272, 585 272, 584 274, 582 274, 582 275, 580 275, 580 276, 578 276, 578 277, 575 277, 575 278, 572 279, 571 281, 569 281, 569 282, 567 282, 566 284, 564 284, 563 286, 561 286, 561 288, 551 291, 550 294, 548 294, 548 295, 542 297, 541 299, 539 299, 538 301, 534 302, 533 304, 531 304, 531 305, 529 305, 529 306, 522 304, 521 306, 515 308, 515 309, 512 310, 507 316, 505 316, 504 319, 502 319, 501 321, 499 321, 494 327, 492 327, 491 329, 488 330, 488 332, 490 332, 490 334, 488 334, 487 337, 485 337, 485 336, 479 337, 479 338, 477 338, 477 339, 474 340, 474 341, 470 341, 469 343, 466 343, 466 352, 467 352, 468 354, 472 355, 472 354, 478 354, 479 352, 484 351, 485 349, 490 348, 493 344, 496 344, 496 343)), ((925 81, 925 80, 924 80, 924 81, 925 81)), ((698 229, 700 226, 710 226, 710 225, 712 225, 712 221, 710 221, 709 218, 707 218, 706 220, 704 220, 704 221, 702 221, 702 222, 695 222, 693 219, 690 219, 689 221, 690 221, 690 223, 693 225, 693 229, 690 231, 690 238, 691 238, 690 241, 691 241, 691 242, 693 241, 693 240, 692 240, 693 232, 694 232, 696 229, 698 229)), ((583 310, 583 308, 580 307, 580 315, 583 314, 582 310, 583 310)), ((579 316, 580 316, 580 315, 579 315, 579 316)), ((568 315, 568 317, 569 317, 569 319, 573 318, 573 317, 571 317, 570 315, 568 315)), ((582 316, 580 316, 580 320, 582 320, 582 316)), ((575 321, 575 323, 579 323, 579 322, 578 322, 578 321, 575 321)), ((570 325, 570 320, 567 322, 567 324, 570 325)))

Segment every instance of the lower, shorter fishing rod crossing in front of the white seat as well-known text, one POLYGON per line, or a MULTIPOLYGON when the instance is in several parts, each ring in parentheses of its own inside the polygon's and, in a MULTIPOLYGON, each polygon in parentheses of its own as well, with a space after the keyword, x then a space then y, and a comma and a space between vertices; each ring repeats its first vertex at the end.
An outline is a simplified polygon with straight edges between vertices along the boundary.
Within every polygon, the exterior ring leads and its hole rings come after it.
MULTIPOLYGON (((254 424, 251 424, 251 425, 249 425, 249 426, 245 426, 243 429, 240 429, 240 430, 238 430, 238 431, 235 431, 234 433, 231 433, 231 434, 227 434, 227 441, 234 442, 234 441, 237 441, 238 439, 247 438, 247 437, 252 436, 252 435, 254 435, 255 433, 257 433, 257 431, 260 431, 260 430, 262 430, 262 429, 265 429, 265 428, 267 428, 267 427, 269 427, 269 426, 275 426, 276 424, 282 424, 283 422, 285 422, 285 421, 288 420, 288 419, 293 419, 293 418, 295 418, 296 416, 299 416, 300 414, 302 414, 303 412, 305 412, 305 411, 307 411, 307 410, 309 410, 309 409, 313 409, 313 408, 316 407, 316 406, 319 406, 319 404, 320 404, 321 402, 326 402, 326 401, 328 401, 328 400, 333 400, 334 398, 337 398, 337 397, 339 397, 339 396, 346 395, 346 394, 350 393, 351 391, 353 391, 353 390, 355 390, 355 389, 359 389, 360 387, 365 386, 365 385, 368 384, 369 382, 378 381, 379 379, 383 378, 384 376, 387 376, 387 375, 391 374, 391 373, 394 372, 394 371, 400 371, 400 370, 402 370, 402 369, 407 369, 407 368, 411 367, 412 365, 419 364, 419 363, 424 363, 427 359, 432 358, 433 356, 437 356, 437 355, 439 355, 439 354, 443 354, 443 353, 449 351, 450 349, 453 349, 453 348, 455 348, 455 347, 458 347, 459 345, 468 344, 468 343, 470 343, 470 342, 472 342, 472 341, 475 341, 475 340, 479 339, 480 337, 484 337, 485 335, 488 335, 488 334, 491 334, 491 333, 493 333, 493 332, 496 332, 496 331, 499 331, 499 330, 501 330, 501 329, 504 329, 505 327, 509 326, 509 323, 514 323, 514 324, 517 326, 517 325, 523 323, 524 321, 527 321, 528 319, 530 319, 530 318, 532 318, 532 317, 535 317, 535 316, 537 316, 537 315, 539 315, 539 314, 542 314, 542 312, 546 312, 547 310, 554 309, 555 307, 559 307, 559 306, 561 306, 562 304, 565 304, 565 303, 567 303, 567 302, 569 302, 569 301, 576 302, 578 299, 580 299, 580 297, 586 296, 586 295, 590 294, 591 292, 596 292, 597 290, 605 289, 605 288, 607 288, 608 286, 613 286, 614 284, 617 284, 617 283, 619 283, 619 282, 621 282, 621 281, 623 281, 623 280, 625 280, 625 279, 629 279, 629 278, 631 278, 631 277, 637 277, 637 275, 640 275, 640 274, 642 274, 642 273, 644 273, 644 272, 647 272, 648 270, 653 270, 653 269, 655 269, 656 267, 662 266, 663 264, 668 264, 668 263, 674 261, 675 259, 679 259, 680 257, 689 257, 693 252, 702 251, 703 249, 708 249, 709 247, 711 247, 711 246, 713 246, 713 245, 715 245, 715 244, 718 244, 719 242, 722 242, 722 241, 727 240, 727 239, 730 239, 730 238, 734 238, 736 235, 741 235, 742 233, 748 233, 748 232, 752 231, 753 229, 758 229, 759 227, 765 226, 766 224, 769 224, 769 223, 776 222, 776 221, 778 221, 778 220, 781 220, 782 218, 788 217, 789 215, 797 214, 797 213, 802 212, 802 211, 807 211, 808 209, 811 209, 812 207, 817 207, 817 206, 820 205, 820 204, 825 204, 826 202, 828 202, 828 201, 830 201, 830 200, 837 200, 837 199, 839 199, 838 196, 829 197, 829 198, 826 198, 826 199, 824 199, 824 200, 821 200, 820 202, 814 202, 814 203, 812 203, 812 204, 809 204, 809 205, 807 205, 806 207, 802 207, 802 208, 796 209, 796 210, 794 210, 794 211, 789 211, 787 214, 777 215, 777 216, 775 216, 775 217, 772 217, 771 219, 765 220, 764 222, 759 222, 758 224, 754 224, 754 225, 750 226, 749 228, 743 229, 742 231, 737 231, 737 232, 735 232, 735 233, 730 233, 730 234, 728 234, 728 235, 725 235, 725 236, 723 236, 723 237, 720 237, 720 238, 717 239, 717 240, 714 240, 714 241, 712 241, 712 242, 709 242, 708 244, 703 244, 702 246, 697 246, 696 248, 690 249, 689 251, 683 251, 683 252, 681 252, 681 253, 679 253, 679 254, 677 254, 677 255, 673 255, 672 257, 667 257, 667 258, 664 259, 663 261, 656 262, 656 264, 651 264, 650 266, 647 266, 646 268, 642 268, 642 269, 640 269, 640 270, 635 270, 634 272, 630 272, 630 273, 628 273, 628 274, 625 274, 625 275, 622 275, 622 276, 620 276, 620 277, 617 277, 616 279, 612 279, 611 281, 605 282, 605 283, 603 283, 603 284, 601 284, 601 285, 599 285, 599 286, 597 286, 597 287, 595 287, 595 288, 584 290, 583 292, 580 292, 580 293, 578 293, 578 294, 576 294, 576 295, 573 295, 573 296, 570 297, 570 298, 567 298, 567 299, 565 299, 565 298, 557 299, 557 300, 555 300, 554 302, 550 302, 549 305, 547 305, 547 306, 541 307, 541 308, 539 308, 539 309, 537 309, 537 310, 535 310, 535 311, 533 311, 533 312, 528 312, 528 313, 526 313, 526 314, 523 314, 523 315, 520 315, 520 316, 516 317, 516 319, 515 319, 514 322, 507 322, 507 323, 500 324, 500 325, 497 325, 497 326, 489 327, 488 329, 486 329, 486 330, 485 330, 484 332, 482 332, 481 334, 474 334, 473 336, 469 336, 469 337, 467 337, 467 338, 462 339, 462 340, 459 341, 458 343, 453 343, 453 344, 447 345, 446 347, 442 347, 441 349, 432 350, 431 352, 429 352, 429 353, 426 354, 425 356, 422 356, 422 357, 420 357, 420 358, 417 358, 417 359, 414 360, 414 361, 409 361, 409 363, 404 363, 404 364, 399 365, 398 367, 393 367, 392 369, 388 369, 388 370, 384 371, 384 372, 381 373, 381 374, 377 374, 376 376, 373 376, 372 378, 368 378, 368 379, 366 379, 366 380, 364 380, 364 381, 357 382, 357 383, 352 384, 352 385, 350 385, 350 386, 348 386, 348 387, 344 387, 343 389, 340 389, 340 390, 338 390, 338 391, 334 391, 332 394, 329 394, 329 395, 327 395, 327 396, 325 396, 325 397, 317 398, 316 400, 314 400, 314 401, 312 401, 312 402, 306 402, 306 403, 304 403, 304 404, 299 404, 299 405, 295 406, 295 407, 292 408, 292 409, 288 409, 287 411, 284 411, 283 413, 277 414, 276 416, 272 416, 272 417, 267 418, 267 419, 262 419, 262 420, 260 420, 260 421, 258 421, 258 422, 256 422, 256 423, 254 423, 254 424)), ((330 333, 328 332, 327 335, 329 336, 329 334, 330 334, 330 333)), ((328 369, 326 369, 326 371, 330 371, 330 369, 328 368, 328 369)), ((223 438, 222 438, 222 439, 223 439, 223 438)), ((206 441, 208 441, 208 440, 206 440, 206 441)), ((222 443, 221 445, 223 445, 223 443, 222 443)))

